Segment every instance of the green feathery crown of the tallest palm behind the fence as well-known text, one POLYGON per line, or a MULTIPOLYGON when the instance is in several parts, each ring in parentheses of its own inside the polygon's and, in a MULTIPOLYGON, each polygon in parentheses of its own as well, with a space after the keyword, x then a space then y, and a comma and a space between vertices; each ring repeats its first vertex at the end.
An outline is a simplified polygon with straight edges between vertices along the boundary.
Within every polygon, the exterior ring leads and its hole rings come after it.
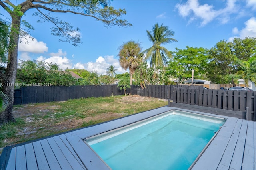
POLYGON ((152 27, 152 31, 147 30, 148 39, 153 43, 152 47, 146 49, 142 53, 146 53, 145 61, 150 58, 150 66, 158 67, 164 66, 167 63, 167 58, 171 58, 172 54, 165 47, 161 45, 165 45, 171 42, 177 42, 174 38, 170 38, 174 36, 174 31, 169 30, 168 26, 163 26, 163 24, 159 27, 158 23, 156 23, 152 27))

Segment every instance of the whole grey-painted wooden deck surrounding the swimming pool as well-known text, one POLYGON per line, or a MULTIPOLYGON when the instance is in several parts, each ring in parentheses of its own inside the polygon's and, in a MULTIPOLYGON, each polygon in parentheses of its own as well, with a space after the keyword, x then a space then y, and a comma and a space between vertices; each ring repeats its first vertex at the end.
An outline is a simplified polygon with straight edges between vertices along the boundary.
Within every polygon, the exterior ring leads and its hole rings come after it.
MULTIPOLYGON (((64 134, 6 147, 0 158, 1 170, 110 169, 83 139, 172 109, 188 111, 174 107, 161 107, 64 134)), ((194 163, 192 170, 255 169, 256 122, 214 116, 226 118, 227 121, 194 163)))

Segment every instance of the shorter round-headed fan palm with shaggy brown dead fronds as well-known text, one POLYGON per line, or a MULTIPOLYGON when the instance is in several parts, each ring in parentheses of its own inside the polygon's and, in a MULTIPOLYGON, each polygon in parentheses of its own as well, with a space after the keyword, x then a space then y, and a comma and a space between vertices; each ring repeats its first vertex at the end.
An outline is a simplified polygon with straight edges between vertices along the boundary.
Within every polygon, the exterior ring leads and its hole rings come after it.
POLYGON ((132 75, 143 60, 139 42, 128 41, 119 47, 119 63, 123 69, 129 68, 130 85, 132 85, 132 75))

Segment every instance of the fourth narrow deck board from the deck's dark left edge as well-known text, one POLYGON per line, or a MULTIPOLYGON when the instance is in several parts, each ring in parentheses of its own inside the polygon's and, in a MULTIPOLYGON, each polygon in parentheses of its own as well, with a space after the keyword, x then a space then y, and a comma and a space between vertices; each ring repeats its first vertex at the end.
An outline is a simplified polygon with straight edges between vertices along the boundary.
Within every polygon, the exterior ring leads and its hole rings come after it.
POLYGON ((39 170, 50 169, 48 162, 44 155, 44 150, 42 149, 40 141, 33 142, 34 152, 36 155, 36 162, 39 170))

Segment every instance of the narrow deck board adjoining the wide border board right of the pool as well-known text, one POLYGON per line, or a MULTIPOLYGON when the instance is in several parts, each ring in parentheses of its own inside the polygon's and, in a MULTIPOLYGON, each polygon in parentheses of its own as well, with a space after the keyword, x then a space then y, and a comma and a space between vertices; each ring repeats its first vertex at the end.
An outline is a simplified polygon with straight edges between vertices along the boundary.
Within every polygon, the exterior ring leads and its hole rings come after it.
POLYGON ((238 140, 241 125, 242 125, 242 119, 238 119, 238 121, 236 122, 236 126, 234 127, 234 130, 232 131, 232 136, 230 137, 228 146, 226 147, 226 150, 222 156, 220 164, 228 166, 228 167, 230 166, 230 162, 231 162, 233 154, 234 154, 234 149, 236 147, 236 142, 238 140))

